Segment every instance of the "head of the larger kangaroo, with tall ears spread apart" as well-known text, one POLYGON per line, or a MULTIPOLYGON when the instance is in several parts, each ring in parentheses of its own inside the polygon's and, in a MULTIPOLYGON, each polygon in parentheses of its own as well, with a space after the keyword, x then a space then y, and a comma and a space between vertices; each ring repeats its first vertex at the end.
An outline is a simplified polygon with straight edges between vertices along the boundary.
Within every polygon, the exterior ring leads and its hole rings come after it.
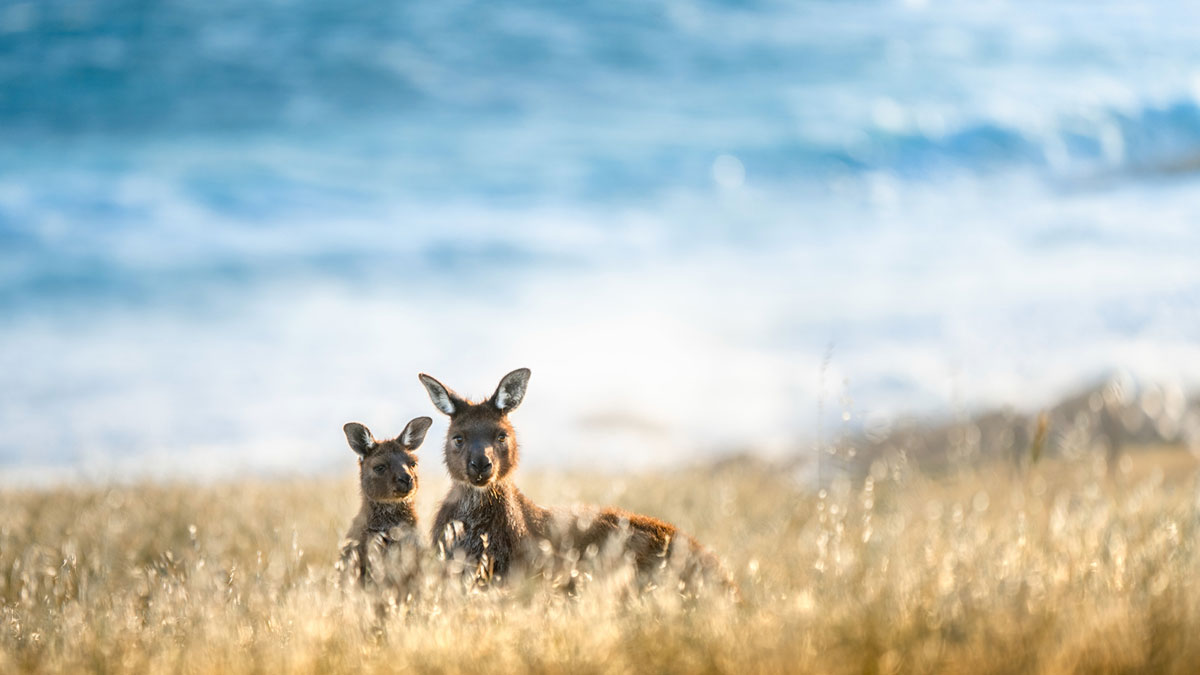
POLYGON ((524 398, 529 383, 528 368, 505 375, 496 393, 479 404, 463 399, 424 372, 420 378, 433 405, 450 416, 445 461, 451 478, 485 488, 516 468, 517 440, 509 424, 509 413, 524 398))

